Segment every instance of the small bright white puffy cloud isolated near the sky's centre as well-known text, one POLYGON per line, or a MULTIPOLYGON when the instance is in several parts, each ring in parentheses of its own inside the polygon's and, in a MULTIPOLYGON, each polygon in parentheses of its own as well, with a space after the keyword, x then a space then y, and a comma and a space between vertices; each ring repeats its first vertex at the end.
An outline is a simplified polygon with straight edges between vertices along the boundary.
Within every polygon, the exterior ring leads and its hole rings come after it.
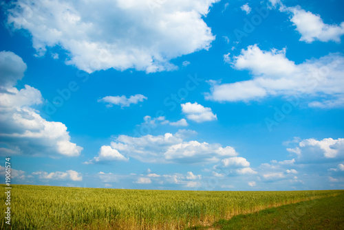
POLYGON ((197 102, 193 104, 186 102, 185 104, 181 104, 181 106, 182 112, 186 114, 186 117, 195 122, 201 123, 217 120, 217 116, 211 111, 211 108, 204 107, 197 102))

